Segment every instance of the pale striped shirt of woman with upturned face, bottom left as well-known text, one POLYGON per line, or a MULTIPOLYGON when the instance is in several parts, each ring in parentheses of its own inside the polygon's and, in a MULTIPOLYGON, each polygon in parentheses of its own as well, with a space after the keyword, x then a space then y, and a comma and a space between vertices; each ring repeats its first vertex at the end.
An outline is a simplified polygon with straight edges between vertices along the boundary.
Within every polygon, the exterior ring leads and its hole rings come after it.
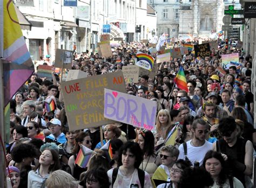
POLYGON ((48 177, 49 174, 42 177, 39 173, 39 168, 36 171, 31 170, 28 175, 28 188, 41 188, 48 177))

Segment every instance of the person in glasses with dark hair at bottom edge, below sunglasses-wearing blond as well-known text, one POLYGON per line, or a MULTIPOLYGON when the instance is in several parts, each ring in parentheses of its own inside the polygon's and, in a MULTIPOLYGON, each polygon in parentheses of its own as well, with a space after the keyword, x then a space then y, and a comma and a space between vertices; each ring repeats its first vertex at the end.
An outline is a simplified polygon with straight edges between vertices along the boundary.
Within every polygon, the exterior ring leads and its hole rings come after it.
POLYGON ((171 182, 164 183, 157 186, 157 188, 177 188, 182 177, 183 170, 189 168, 192 164, 189 161, 183 159, 177 160, 172 168, 170 168, 171 182))

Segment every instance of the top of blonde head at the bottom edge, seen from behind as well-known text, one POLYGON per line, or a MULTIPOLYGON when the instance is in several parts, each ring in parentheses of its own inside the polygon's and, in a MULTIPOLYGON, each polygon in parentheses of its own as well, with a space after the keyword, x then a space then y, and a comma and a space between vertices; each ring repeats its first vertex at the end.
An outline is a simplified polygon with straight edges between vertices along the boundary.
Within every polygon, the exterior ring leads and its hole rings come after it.
POLYGON ((47 188, 77 188, 78 183, 69 173, 63 170, 56 170, 46 179, 45 186, 47 188))

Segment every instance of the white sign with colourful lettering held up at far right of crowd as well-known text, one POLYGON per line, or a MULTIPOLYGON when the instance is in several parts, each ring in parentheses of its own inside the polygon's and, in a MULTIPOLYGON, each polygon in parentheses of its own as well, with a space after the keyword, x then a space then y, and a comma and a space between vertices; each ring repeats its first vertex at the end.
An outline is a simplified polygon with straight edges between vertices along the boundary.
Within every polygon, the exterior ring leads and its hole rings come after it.
POLYGON ((237 69, 240 68, 238 53, 223 54, 221 55, 221 60, 223 69, 228 69, 230 66, 235 66, 237 69))

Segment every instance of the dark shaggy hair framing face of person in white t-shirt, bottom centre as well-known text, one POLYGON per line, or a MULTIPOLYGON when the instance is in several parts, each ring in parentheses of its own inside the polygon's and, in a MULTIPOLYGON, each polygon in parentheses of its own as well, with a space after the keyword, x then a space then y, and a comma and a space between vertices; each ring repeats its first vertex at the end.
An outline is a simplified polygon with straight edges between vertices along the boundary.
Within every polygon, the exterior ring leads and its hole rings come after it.
POLYGON ((126 152, 129 151, 131 152, 134 157, 136 158, 135 163, 134 163, 134 168, 138 169, 140 163, 143 161, 143 153, 142 149, 140 149, 139 144, 137 142, 126 142, 122 148, 120 148, 119 152, 119 158, 118 158, 118 166, 122 166, 122 155, 126 154, 126 152))

